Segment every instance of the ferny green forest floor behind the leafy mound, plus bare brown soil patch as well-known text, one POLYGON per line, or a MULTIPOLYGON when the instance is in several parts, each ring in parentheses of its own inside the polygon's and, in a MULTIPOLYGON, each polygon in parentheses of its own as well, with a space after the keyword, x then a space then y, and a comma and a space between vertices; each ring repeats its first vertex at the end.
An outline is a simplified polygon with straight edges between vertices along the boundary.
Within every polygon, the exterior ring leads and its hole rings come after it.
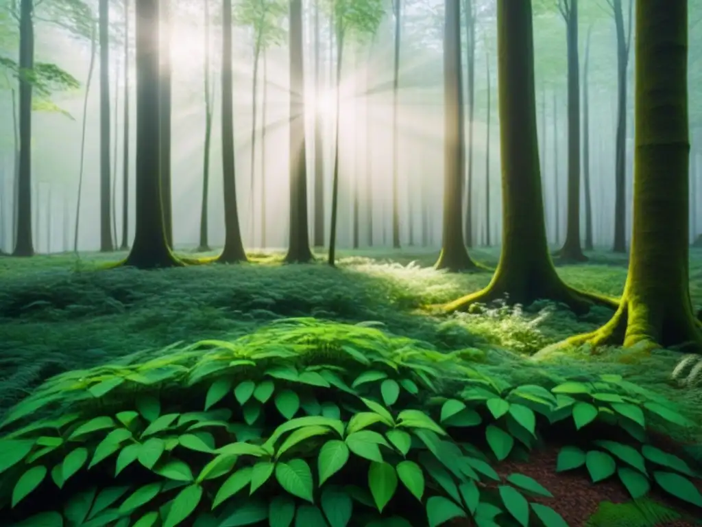
MULTIPOLYGON (((495 249, 473 249, 471 254, 477 261, 496 265, 495 249)), ((321 262, 281 265, 279 254, 252 254, 255 263, 235 266, 148 273, 130 268, 100 270, 122 256, 0 259, 0 419, 44 380, 66 370, 136 363, 166 353, 161 349, 176 341, 233 339, 280 318, 314 317, 341 323, 376 321, 388 332, 428 341, 440 350, 473 349, 477 367, 514 384, 621 374, 676 401, 687 417, 702 423, 702 387, 681 387, 671 380, 680 353, 621 349, 596 355, 588 350, 539 353, 549 344, 606 322, 611 311, 604 308, 593 308, 581 318, 549 303, 528 311, 496 306, 479 313, 429 315, 423 306, 461 297, 484 287, 491 278, 489 272, 435 271, 431 268, 435 252, 343 251, 336 269, 321 262)), ((559 266, 559 275, 580 289, 621 294, 625 257, 606 252, 589 256, 588 263, 559 266)), ((700 308, 702 249, 691 249, 690 279, 693 303, 700 308)), ((702 445, 702 427, 675 434, 684 443, 702 445)), ((568 480, 573 477, 569 474, 560 475, 565 480, 558 482, 547 474, 552 473, 555 453, 547 450, 536 456, 547 460, 550 468, 544 469, 546 461, 532 462, 531 469, 522 467, 522 472, 547 488, 562 488, 555 494, 563 506, 555 509, 571 527, 585 525, 585 518, 603 500, 627 501, 616 481, 593 486, 586 479, 582 483, 568 480), (579 487, 586 489, 578 505, 569 496, 579 487), (589 509, 578 512, 583 507, 589 509)), ((599 527, 600 523, 587 525, 599 527)), ((665 523, 674 525, 688 523, 665 523)))

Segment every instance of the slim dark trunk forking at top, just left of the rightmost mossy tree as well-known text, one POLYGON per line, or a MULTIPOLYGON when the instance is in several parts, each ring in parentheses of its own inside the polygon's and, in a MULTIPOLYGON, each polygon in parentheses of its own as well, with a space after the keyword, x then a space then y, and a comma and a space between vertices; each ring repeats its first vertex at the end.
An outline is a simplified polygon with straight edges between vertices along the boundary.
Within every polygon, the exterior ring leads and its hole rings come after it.
POLYGON ((626 72, 629 64, 633 0, 629 1, 628 34, 624 29, 622 0, 612 0, 617 47, 617 119, 614 146, 614 245, 613 252, 626 252, 626 72))

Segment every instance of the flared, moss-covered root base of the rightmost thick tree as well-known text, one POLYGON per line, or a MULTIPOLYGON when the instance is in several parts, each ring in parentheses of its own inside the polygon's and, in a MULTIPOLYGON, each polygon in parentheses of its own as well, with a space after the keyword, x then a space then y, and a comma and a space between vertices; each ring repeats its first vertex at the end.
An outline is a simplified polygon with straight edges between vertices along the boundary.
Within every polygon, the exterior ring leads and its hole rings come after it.
POLYGON ((654 320, 646 304, 633 301, 627 294, 607 324, 590 333, 576 335, 555 344, 556 347, 637 346, 643 353, 661 348, 675 348, 687 353, 702 353, 702 324, 690 309, 659 310, 654 320))

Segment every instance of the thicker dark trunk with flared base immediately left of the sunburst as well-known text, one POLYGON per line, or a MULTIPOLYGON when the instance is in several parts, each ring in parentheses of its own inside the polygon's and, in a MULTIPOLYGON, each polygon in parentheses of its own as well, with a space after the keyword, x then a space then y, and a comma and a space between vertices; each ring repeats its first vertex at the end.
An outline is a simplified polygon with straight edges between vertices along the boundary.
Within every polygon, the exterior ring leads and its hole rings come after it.
POLYGON ((307 155, 305 149, 305 66, 303 4, 290 1, 290 235, 285 261, 311 261, 307 225, 307 155))

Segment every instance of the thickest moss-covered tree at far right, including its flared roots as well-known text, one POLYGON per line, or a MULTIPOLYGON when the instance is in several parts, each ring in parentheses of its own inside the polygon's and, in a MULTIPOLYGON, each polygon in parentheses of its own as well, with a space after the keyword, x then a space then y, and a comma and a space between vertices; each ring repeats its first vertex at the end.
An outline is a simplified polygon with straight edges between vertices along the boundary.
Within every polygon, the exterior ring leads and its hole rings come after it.
POLYGON ((619 308, 568 344, 702 351, 689 295, 687 2, 636 4, 634 221, 619 308))

